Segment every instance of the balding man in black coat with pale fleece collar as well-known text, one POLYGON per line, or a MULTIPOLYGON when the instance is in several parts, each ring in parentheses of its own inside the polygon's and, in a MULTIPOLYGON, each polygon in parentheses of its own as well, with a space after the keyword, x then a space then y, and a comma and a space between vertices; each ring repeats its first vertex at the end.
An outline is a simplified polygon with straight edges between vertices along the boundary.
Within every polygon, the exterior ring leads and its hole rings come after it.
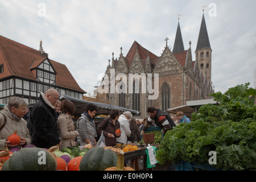
POLYGON ((39 102, 36 102, 31 110, 30 121, 32 124, 31 144, 40 148, 49 148, 59 144, 57 122, 55 118, 55 103, 59 99, 59 93, 55 89, 49 89, 42 93, 39 102))

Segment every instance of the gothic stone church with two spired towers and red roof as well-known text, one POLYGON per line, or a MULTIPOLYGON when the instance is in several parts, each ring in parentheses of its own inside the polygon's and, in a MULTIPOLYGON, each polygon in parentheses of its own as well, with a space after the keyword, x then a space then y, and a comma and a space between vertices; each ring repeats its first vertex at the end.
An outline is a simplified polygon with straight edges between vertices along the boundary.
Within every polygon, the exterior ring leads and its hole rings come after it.
MULTIPOLYGON (((114 59, 113 53, 112 64, 110 65, 109 60, 105 72, 108 77, 104 77, 105 79, 109 78, 109 92, 104 93, 100 102, 138 110, 141 113, 140 117, 144 118, 147 115, 147 107, 150 106, 166 111, 169 108, 185 105, 186 101, 211 98, 209 94, 214 92, 211 81, 212 49, 210 48, 204 14, 195 51, 195 61, 192 60, 191 42, 189 42, 189 48, 184 49, 179 21, 172 51, 167 45, 167 40, 161 56, 156 56, 136 41, 125 57, 122 48, 118 60, 114 59), (127 92, 110 92, 110 77, 113 77, 110 72, 113 69, 115 76, 119 73, 126 75, 127 80, 115 77, 114 84, 120 86, 120 89, 125 87, 127 92), (158 90, 158 97, 154 100, 148 99, 151 94, 142 92, 142 84, 144 84, 142 79, 134 79, 131 83, 133 84, 133 92, 129 92, 130 80, 128 78, 131 73, 152 74, 152 88, 158 87, 155 89, 158 90), (156 73, 158 73, 158 84, 154 85, 156 73), (126 85, 123 85, 124 83, 126 85)), ((104 78, 102 82, 104 82, 104 78)))

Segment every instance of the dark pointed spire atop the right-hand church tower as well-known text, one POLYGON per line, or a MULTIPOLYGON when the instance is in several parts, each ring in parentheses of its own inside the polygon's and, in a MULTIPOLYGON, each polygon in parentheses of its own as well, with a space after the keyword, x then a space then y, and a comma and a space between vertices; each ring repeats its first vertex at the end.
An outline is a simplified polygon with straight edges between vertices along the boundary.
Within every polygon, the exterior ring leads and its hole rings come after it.
POLYGON ((199 37, 197 40, 196 51, 198 51, 199 49, 203 49, 203 48, 210 48, 207 26, 205 24, 205 19, 204 19, 204 13, 203 13, 203 18, 202 18, 202 22, 201 22, 199 37))

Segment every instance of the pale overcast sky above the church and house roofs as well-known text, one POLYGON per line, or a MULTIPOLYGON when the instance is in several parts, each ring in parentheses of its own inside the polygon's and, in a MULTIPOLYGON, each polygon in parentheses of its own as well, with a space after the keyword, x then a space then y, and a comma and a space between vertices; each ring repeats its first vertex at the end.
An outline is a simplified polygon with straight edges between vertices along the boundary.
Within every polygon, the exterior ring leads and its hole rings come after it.
POLYGON ((0 35, 39 49, 65 64, 82 89, 93 93, 108 60, 126 56, 136 40, 160 56, 171 50, 180 14, 192 58, 203 15, 212 48, 215 92, 250 82, 256 87, 256 1, 206 0, 0 0, 0 35))

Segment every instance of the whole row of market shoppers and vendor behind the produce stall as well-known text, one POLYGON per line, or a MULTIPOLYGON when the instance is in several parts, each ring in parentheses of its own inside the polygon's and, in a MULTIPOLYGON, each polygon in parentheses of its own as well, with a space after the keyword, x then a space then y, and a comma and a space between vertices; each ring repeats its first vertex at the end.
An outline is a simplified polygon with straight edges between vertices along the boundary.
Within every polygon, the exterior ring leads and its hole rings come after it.
POLYGON ((72 117, 74 107, 72 101, 60 102, 59 93, 55 89, 41 92, 39 101, 31 110, 22 98, 11 97, 0 113, 0 148, 20 148, 33 144, 40 148, 59 145, 61 150, 77 144, 91 144, 95 147, 101 144, 115 146, 116 143, 137 143, 149 126, 159 126, 162 134, 165 134, 180 122, 190 122, 183 113, 177 113, 177 121, 174 122, 169 114, 149 107, 147 113, 150 117, 144 118, 143 123, 133 118, 130 111, 112 109, 110 117, 96 125, 94 117, 97 107, 88 104, 75 125, 72 117), (20 137, 19 144, 11 144, 7 140, 14 131, 20 137))

